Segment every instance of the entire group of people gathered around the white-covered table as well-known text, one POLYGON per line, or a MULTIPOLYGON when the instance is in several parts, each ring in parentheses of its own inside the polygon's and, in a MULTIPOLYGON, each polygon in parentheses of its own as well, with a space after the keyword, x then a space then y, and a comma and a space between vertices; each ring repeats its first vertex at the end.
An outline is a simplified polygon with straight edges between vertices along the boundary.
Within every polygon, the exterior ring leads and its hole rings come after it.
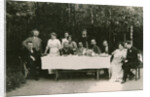
MULTIPOLYGON (((35 79, 38 79, 38 75, 41 69, 42 56, 42 40, 38 37, 39 31, 32 30, 32 37, 29 37, 23 41, 25 51, 23 54, 24 62, 28 72, 32 73, 35 79)), ((64 38, 57 39, 57 34, 52 32, 51 38, 48 40, 44 55, 48 56, 99 56, 100 54, 110 54, 109 45, 107 40, 103 41, 103 47, 97 46, 95 39, 89 39, 87 31, 83 30, 81 37, 76 43, 72 36, 68 32, 64 33, 64 38)), ((131 68, 138 65, 138 50, 132 46, 131 42, 119 43, 118 49, 112 53, 113 59, 111 62, 111 81, 125 82, 128 75, 130 78, 134 77, 134 74, 130 71, 131 68)), ((49 70, 49 74, 52 70, 49 70)))

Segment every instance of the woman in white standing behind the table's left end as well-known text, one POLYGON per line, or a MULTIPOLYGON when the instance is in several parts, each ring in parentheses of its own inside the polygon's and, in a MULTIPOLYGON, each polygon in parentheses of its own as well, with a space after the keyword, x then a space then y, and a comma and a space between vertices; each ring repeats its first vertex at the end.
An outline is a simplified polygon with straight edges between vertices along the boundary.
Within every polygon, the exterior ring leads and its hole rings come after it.
MULTIPOLYGON (((61 43, 60 41, 56 38, 56 33, 53 32, 51 33, 51 39, 48 40, 47 42, 47 46, 45 49, 45 54, 47 54, 48 50, 49 50, 49 54, 48 56, 60 56, 60 50, 61 48, 61 43)), ((52 70, 49 69, 48 70, 49 74, 52 74, 52 70)))

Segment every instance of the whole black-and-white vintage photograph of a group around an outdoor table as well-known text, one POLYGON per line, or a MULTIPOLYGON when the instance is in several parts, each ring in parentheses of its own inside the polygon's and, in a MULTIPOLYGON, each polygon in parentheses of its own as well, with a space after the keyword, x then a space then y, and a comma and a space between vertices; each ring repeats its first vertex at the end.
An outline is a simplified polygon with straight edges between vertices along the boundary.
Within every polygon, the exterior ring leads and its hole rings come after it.
POLYGON ((6 1, 6 96, 143 90, 143 7, 6 1))

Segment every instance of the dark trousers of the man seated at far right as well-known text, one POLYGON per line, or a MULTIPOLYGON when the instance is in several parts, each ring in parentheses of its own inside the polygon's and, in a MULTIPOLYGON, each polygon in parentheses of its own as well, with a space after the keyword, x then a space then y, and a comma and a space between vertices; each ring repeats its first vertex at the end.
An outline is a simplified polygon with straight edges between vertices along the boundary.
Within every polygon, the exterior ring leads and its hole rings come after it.
POLYGON ((134 76, 134 74, 131 72, 132 68, 137 68, 138 61, 129 61, 127 63, 124 63, 122 68, 124 70, 123 80, 126 81, 128 75, 130 77, 134 76))

